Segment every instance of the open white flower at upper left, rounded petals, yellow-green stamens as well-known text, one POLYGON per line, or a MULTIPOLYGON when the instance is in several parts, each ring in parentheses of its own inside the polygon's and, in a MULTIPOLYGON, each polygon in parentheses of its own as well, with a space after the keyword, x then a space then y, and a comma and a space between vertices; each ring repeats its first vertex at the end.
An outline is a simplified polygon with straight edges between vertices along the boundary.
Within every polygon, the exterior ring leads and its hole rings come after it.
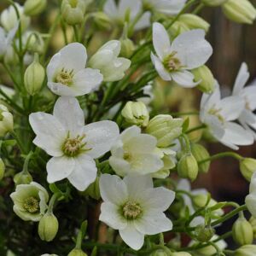
POLYGON ((83 44, 67 44, 49 61, 48 87, 59 96, 82 96, 102 83, 97 69, 85 68, 87 53, 83 44))

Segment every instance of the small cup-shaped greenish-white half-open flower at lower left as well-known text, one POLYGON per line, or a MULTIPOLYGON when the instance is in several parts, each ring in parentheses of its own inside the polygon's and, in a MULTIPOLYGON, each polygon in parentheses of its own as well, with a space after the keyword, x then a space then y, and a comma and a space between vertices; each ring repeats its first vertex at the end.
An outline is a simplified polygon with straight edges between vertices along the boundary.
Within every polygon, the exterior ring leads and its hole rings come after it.
POLYGON ((47 209, 49 195, 40 184, 20 184, 10 195, 14 212, 23 220, 39 221, 47 209))

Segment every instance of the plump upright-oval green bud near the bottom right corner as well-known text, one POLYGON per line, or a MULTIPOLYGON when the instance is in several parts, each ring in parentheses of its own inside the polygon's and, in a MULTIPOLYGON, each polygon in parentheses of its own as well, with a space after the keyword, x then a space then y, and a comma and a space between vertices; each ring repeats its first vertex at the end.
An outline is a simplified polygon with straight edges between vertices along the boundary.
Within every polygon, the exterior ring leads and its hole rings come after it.
POLYGON ((234 241, 241 246, 253 243, 253 227, 243 216, 233 224, 232 235, 234 241))

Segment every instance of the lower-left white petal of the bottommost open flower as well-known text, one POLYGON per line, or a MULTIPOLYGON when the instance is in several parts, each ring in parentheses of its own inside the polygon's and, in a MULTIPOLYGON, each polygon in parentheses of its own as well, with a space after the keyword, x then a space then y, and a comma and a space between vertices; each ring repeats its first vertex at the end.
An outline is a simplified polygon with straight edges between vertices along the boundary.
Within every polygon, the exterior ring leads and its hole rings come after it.
POLYGON ((102 203, 99 219, 114 230, 124 230, 127 226, 127 220, 119 214, 119 207, 111 202, 102 203))

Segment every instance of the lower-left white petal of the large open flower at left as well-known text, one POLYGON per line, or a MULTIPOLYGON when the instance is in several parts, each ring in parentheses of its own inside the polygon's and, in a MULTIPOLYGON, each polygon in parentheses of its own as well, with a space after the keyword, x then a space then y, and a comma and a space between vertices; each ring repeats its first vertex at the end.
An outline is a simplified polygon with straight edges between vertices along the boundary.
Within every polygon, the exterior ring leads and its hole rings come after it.
POLYGON ((65 177, 68 177, 75 168, 75 161, 72 157, 61 156, 51 158, 47 165, 46 170, 48 173, 48 183, 55 183, 65 177))

